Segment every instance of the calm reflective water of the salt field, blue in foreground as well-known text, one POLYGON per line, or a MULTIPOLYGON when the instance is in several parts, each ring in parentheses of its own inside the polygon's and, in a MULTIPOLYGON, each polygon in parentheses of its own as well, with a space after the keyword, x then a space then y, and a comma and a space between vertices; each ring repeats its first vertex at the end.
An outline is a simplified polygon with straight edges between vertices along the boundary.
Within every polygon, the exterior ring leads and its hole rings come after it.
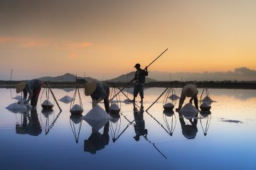
MULTIPOLYGON (((72 97, 75 92, 53 91, 57 99, 72 97)), ((164 88, 145 89, 144 110, 162 91, 164 88)), ((90 98, 82 92, 80 89, 82 115, 85 115, 92 106, 90 98)), ((61 113, 56 104, 53 113, 42 113, 44 94, 36 111, 12 113, 6 106, 16 102, 12 98, 16 96, 14 89, 0 89, 0 168, 256 169, 256 91, 209 89, 209 92, 216 101, 212 103, 211 114, 198 114, 198 120, 193 120, 196 137, 187 139, 183 123, 191 125, 190 121, 179 118, 178 113, 164 115, 164 97, 148 113, 140 112, 144 122, 137 117, 139 103, 135 108, 122 103, 117 122, 110 121, 99 132, 92 132, 85 120, 70 119, 70 103, 59 101, 61 113), (136 137, 135 123, 139 132, 147 131, 147 135, 136 137), (98 144, 95 154, 88 152, 89 138, 98 144)), ((178 96, 180 93, 181 89, 176 89, 178 96)), ((131 94, 128 96, 132 98, 131 94)), ((104 108, 102 103, 100 106, 104 108)))

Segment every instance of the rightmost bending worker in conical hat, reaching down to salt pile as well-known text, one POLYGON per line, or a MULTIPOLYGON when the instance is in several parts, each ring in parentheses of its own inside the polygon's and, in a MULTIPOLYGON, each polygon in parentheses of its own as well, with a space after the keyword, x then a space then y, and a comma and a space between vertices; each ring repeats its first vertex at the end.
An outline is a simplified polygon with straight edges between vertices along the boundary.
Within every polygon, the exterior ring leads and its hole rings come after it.
POLYGON ((189 103, 192 104, 192 101, 194 101, 195 107, 198 109, 198 89, 196 88, 196 84, 194 82, 189 82, 185 86, 183 86, 183 89, 181 91, 181 98, 178 102, 178 108, 176 108, 176 111, 179 111, 182 108, 182 105, 186 99, 186 97, 191 97, 189 100, 189 103))

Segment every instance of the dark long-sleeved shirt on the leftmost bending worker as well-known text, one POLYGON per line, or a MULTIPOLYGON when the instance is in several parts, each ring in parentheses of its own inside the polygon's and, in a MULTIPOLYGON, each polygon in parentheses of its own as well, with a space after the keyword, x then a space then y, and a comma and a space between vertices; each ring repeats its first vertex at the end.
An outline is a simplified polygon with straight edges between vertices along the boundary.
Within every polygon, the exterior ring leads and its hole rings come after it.
POLYGON ((23 89, 24 99, 26 99, 29 94, 26 102, 31 100, 31 98, 33 96, 33 91, 35 89, 38 89, 40 87, 40 85, 41 85, 41 81, 38 79, 31 79, 31 80, 26 81, 26 86, 23 89))

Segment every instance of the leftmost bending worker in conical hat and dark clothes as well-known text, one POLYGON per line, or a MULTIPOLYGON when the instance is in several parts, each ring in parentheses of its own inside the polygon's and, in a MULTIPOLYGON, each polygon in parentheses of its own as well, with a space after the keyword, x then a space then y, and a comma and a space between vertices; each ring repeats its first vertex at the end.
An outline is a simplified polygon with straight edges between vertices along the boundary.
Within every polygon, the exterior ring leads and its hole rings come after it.
POLYGON ((18 94, 23 91, 23 100, 25 100, 23 103, 31 101, 31 106, 35 108, 38 103, 38 96, 40 94, 42 84, 42 81, 38 79, 23 81, 16 85, 16 93, 18 94), (28 99, 26 99, 27 96, 28 99))

